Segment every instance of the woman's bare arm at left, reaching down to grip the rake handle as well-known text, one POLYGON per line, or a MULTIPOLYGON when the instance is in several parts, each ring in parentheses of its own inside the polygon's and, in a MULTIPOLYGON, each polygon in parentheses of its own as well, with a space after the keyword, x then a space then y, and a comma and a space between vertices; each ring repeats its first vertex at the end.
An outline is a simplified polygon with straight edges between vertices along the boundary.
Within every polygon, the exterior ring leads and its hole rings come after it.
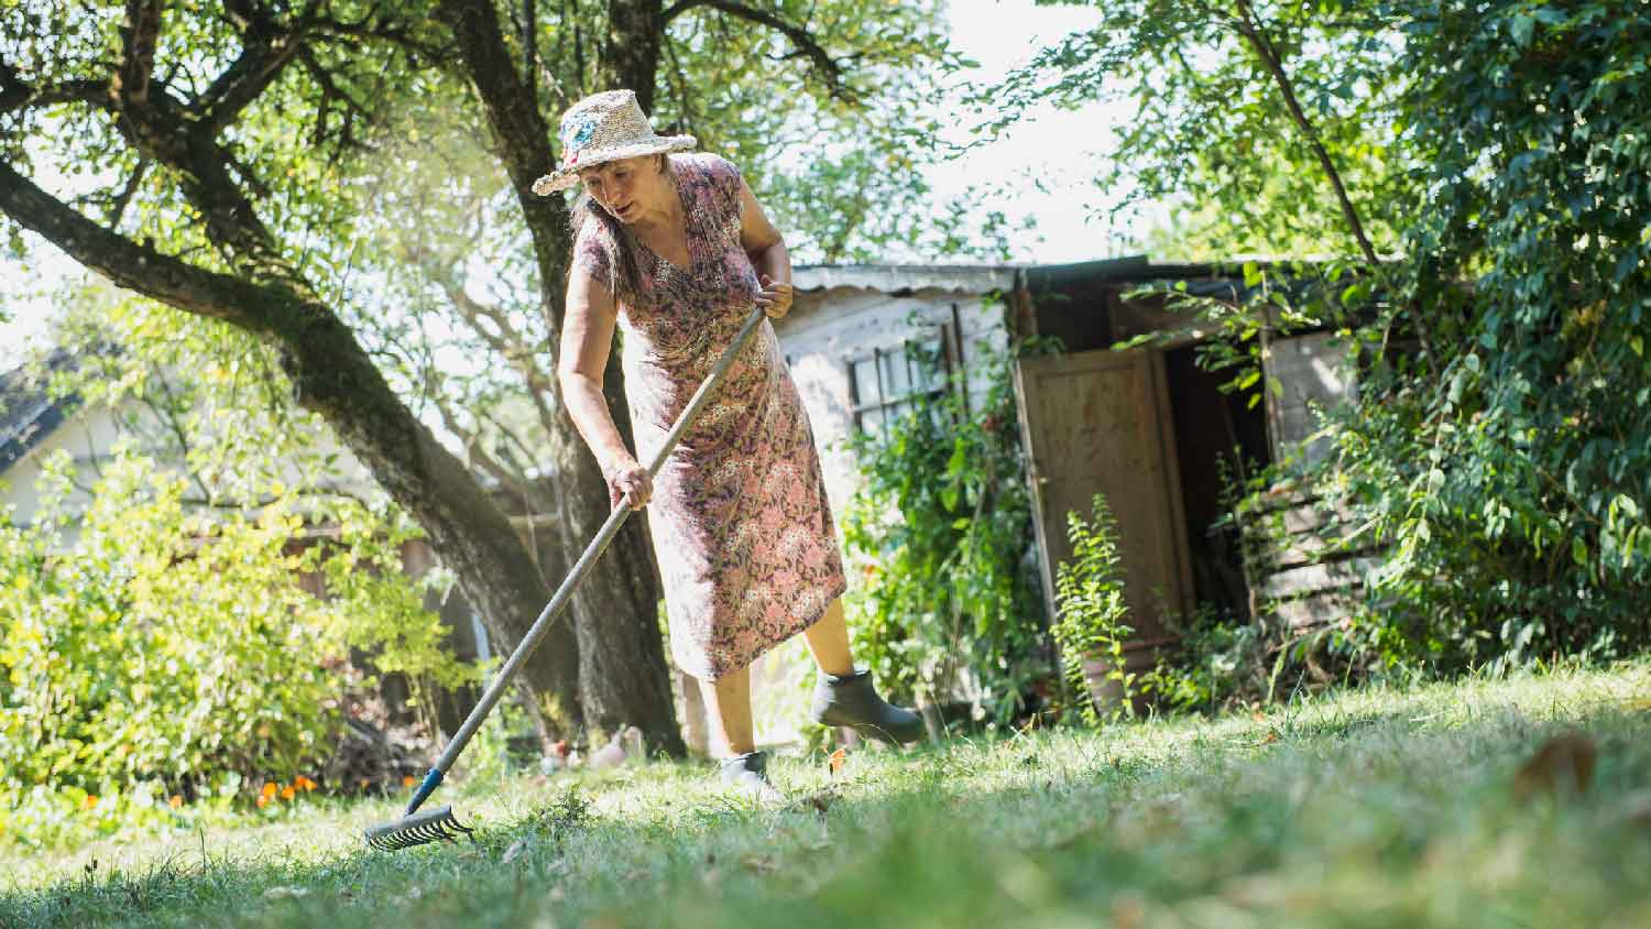
POLYGON ((575 271, 568 276, 568 312, 561 320, 556 381, 561 384, 568 416, 608 480, 609 505, 617 507, 624 500, 641 510, 654 495, 654 480, 624 447, 603 396, 603 371, 608 368, 617 318, 613 294, 606 287, 589 274, 575 271))

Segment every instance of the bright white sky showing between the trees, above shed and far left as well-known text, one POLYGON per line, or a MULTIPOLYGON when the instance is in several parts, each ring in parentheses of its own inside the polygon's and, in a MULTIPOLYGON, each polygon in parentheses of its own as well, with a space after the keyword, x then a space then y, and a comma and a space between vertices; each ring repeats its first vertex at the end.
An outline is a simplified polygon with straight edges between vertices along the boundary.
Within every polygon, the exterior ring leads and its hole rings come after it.
MULTIPOLYGON (((1030 0, 951 0, 949 20, 958 51, 979 63, 969 78, 991 84, 1024 64, 1040 46, 1100 20, 1093 7, 1035 7, 1030 0)), ((944 114, 958 127, 951 142, 966 142, 972 116, 959 106, 944 114)), ((1080 111, 1040 107, 1010 127, 1001 139, 966 155, 930 168, 928 180, 944 201, 972 183, 1010 182, 986 203, 1002 210, 1012 224, 1025 218, 1035 233, 1014 239, 1014 261, 1063 262, 1116 254, 1118 236, 1103 213, 1108 191, 1095 186, 1100 153, 1114 125, 1126 119, 1119 109, 1091 104, 1080 111)), ((28 342, 38 340, 51 297, 83 271, 36 238, 28 239, 35 254, 26 266, 0 259, 0 305, 15 317, 0 323, 0 368, 8 368, 28 342)))

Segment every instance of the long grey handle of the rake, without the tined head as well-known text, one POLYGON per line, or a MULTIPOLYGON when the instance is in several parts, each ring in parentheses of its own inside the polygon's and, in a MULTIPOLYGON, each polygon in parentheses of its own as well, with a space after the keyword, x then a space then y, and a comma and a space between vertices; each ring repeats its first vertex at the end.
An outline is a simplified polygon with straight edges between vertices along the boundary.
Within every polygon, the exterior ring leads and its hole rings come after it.
MULTIPOLYGON (((764 317, 766 314, 763 312, 763 307, 756 307, 755 310, 751 310, 751 315, 746 317, 745 325, 740 327, 740 332, 733 337, 733 343, 728 345, 721 358, 717 360, 717 365, 712 366, 712 373, 707 375, 705 381, 700 383, 700 389, 693 391, 693 398, 688 399, 687 409, 682 411, 682 416, 677 417, 677 424, 670 429, 670 434, 665 436, 665 444, 660 446, 659 454, 655 454, 654 460, 647 465, 649 477, 659 477, 659 469, 665 465, 665 459, 670 457, 670 452, 672 449, 677 447, 677 442, 682 439, 682 434, 687 432, 688 427, 693 426, 693 422, 698 419, 700 409, 710 401, 712 393, 715 393, 717 388, 721 386, 721 381, 728 375, 728 370, 733 368, 735 358, 738 358, 740 350, 745 348, 745 343, 751 338, 751 333, 756 332, 756 327, 763 322, 764 317)), ((580 559, 573 564, 573 571, 568 573, 568 578, 561 582, 561 587, 556 587, 556 594, 550 597, 550 602, 545 604, 543 611, 540 611, 538 619, 533 620, 533 627, 528 629, 522 642, 517 644, 515 652, 510 652, 510 658, 507 658, 504 667, 499 668, 499 673, 494 677, 494 683, 487 686, 487 691, 482 693, 482 698, 475 703, 475 708, 471 710, 469 718, 466 718, 464 724, 459 726, 459 733, 452 736, 452 741, 447 743, 447 747, 441 752, 441 757, 436 759, 436 767, 431 767, 429 774, 424 776, 424 780, 413 794, 413 802, 408 804, 406 815, 413 815, 414 812, 418 812, 418 809, 424 804, 424 800, 429 799, 429 795, 441 784, 442 777, 446 777, 447 771, 452 769, 452 762, 456 762, 459 759, 459 754, 464 752, 464 746, 471 743, 471 736, 475 734, 475 729, 479 729, 482 726, 482 721, 487 719, 487 714, 492 713, 494 705, 499 703, 499 698, 504 696, 505 688, 510 686, 510 680, 515 678, 515 673, 522 670, 522 665, 527 663, 528 657, 533 655, 533 650, 538 648, 540 640, 545 639, 545 634, 550 632, 550 627, 555 625, 558 619, 561 619, 561 614, 566 609, 568 601, 573 599, 573 591, 580 586, 581 581, 584 581, 584 576, 589 574, 591 566, 596 564, 596 559, 603 556, 603 551, 608 549, 608 543, 611 543, 613 538, 619 535, 619 526, 624 525, 629 515, 631 515, 631 507, 626 507, 622 503, 616 507, 613 513, 608 515, 608 521, 603 523, 601 531, 598 531, 596 538, 591 540, 591 545, 584 548, 584 554, 581 554, 580 559)))

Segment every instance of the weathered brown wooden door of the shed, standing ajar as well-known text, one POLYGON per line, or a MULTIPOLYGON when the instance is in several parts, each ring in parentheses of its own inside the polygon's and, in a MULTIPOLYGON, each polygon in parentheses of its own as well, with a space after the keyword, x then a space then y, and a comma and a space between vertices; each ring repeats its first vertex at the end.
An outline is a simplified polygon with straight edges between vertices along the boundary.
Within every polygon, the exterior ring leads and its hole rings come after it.
POLYGON ((1192 609, 1164 356, 1157 351, 1083 351, 1015 365, 1020 431, 1032 482, 1043 596, 1055 615, 1055 566, 1071 558, 1067 513, 1090 515, 1106 497, 1118 521, 1124 599, 1136 635, 1126 665, 1152 665, 1167 640, 1164 614, 1192 609))

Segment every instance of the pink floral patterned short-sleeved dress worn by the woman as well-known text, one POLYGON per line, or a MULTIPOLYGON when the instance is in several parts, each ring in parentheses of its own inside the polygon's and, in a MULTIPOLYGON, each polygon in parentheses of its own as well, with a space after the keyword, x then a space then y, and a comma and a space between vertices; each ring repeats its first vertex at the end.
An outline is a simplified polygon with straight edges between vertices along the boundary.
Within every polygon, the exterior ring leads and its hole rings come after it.
MULTIPOLYGON (((617 294, 617 244, 588 221, 573 269, 616 292, 624 384, 646 465, 755 307, 740 246, 740 172, 672 155, 688 267, 632 238, 639 294, 617 294)), ((764 320, 654 482, 654 549, 670 650, 702 680, 736 672, 814 625, 845 587, 837 531, 802 399, 764 320)))

